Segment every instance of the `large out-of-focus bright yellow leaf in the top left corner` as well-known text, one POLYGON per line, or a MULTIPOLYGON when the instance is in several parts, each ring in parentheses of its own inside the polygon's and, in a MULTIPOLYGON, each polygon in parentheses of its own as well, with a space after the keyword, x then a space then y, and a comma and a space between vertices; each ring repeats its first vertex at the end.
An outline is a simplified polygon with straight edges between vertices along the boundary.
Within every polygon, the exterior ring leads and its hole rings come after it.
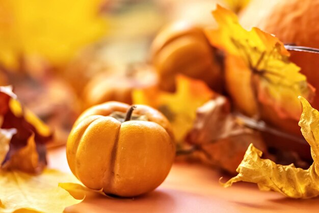
POLYGON ((104 34, 101 3, 0 0, 0 63, 17 68, 21 56, 40 56, 55 65, 67 62, 76 50, 104 34))

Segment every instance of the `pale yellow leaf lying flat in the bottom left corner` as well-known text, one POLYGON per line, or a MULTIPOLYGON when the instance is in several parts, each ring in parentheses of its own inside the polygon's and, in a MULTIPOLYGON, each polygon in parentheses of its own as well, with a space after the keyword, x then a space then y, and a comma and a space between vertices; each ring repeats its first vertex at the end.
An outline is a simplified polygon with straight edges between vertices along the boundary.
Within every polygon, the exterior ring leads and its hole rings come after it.
POLYGON ((0 212, 63 212, 67 206, 82 202, 85 197, 84 193, 77 194, 75 199, 59 186, 59 182, 73 180, 71 175, 50 169, 37 176, 20 171, 0 171, 0 212))

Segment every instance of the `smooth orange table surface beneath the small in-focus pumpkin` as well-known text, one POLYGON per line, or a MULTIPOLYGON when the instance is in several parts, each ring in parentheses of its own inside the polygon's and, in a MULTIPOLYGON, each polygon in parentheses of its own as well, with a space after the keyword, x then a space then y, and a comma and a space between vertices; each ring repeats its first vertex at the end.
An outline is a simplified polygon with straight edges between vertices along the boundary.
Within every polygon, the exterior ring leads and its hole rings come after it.
MULTIPOLYGON (((65 148, 49 150, 48 160, 50 168, 70 172, 65 148)), ((289 199, 244 182, 224 189, 220 176, 206 166, 175 163, 163 184, 147 195, 134 199, 90 196, 65 212, 319 212, 319 199, 289 199)))

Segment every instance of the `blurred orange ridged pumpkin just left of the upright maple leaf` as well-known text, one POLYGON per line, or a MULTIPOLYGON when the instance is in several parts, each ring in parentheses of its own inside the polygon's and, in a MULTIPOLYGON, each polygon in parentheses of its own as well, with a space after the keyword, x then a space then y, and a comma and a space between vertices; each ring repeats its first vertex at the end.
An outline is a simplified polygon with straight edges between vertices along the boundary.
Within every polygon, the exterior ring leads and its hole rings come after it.
POLYGON ((174 91, 175 75, 182 73, 221 91, 221 65, 216 49, 210 46, 198 26, 187 22, 168 25, 154 39, 151 57, 163 90, 174 91))

